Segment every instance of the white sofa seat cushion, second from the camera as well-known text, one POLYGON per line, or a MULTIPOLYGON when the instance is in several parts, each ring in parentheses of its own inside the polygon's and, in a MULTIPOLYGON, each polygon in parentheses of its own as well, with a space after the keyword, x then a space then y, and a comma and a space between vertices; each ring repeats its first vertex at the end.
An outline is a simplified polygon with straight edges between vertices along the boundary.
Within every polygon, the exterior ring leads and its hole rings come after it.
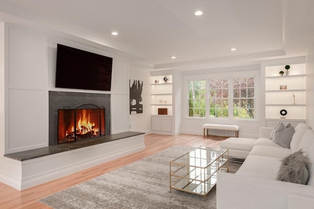
POLYGON ((258 155, 283 159, 290 154, 292 154, 291 149, 286 149, 283 147, 257 145, 253 147, 249 155, 258 155))

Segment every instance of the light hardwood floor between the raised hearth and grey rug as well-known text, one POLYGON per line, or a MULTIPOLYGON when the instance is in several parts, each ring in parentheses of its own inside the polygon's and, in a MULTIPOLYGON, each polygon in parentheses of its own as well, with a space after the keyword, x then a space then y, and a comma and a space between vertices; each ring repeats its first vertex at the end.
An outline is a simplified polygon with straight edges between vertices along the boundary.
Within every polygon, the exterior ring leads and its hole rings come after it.
POLYGON ((204 138, 200 135, 188 134, 179 136, 149 134, 145 136, 146 149, 143 151, 80 171, 43 185, 35 186, 24 191, 18 191, 10 186, 0 183, 0 209, 49 209, 50 207, 39 203, 37 200, 174 145, 219 147, 220 140, 227 138, 228 137, 216 136, 204 138))

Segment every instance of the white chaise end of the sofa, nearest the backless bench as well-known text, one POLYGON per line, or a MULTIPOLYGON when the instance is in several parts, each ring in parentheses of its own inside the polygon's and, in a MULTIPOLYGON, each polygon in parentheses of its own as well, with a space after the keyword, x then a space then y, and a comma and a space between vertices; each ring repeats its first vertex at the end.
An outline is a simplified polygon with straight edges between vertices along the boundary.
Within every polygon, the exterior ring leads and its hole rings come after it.
POLYGON ((229 149, 229 156, 246 158, 253 148, 256 139, 230 137, 220 142, 221 148, 229 149))

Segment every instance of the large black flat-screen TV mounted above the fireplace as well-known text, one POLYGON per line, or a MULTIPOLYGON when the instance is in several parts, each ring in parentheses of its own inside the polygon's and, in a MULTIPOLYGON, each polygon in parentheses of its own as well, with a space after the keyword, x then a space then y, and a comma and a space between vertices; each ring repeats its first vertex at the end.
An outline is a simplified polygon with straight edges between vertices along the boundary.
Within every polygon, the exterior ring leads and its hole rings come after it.
POLYGON ((55 87, 110 91, 112 58, 57 44, 55 87))

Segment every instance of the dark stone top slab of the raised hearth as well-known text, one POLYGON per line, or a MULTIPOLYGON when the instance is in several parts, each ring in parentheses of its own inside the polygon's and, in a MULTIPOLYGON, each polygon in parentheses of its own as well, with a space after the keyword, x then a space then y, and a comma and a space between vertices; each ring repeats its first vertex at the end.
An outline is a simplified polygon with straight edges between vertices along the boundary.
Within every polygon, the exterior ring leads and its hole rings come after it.
POLYGON ((74 149, 79 149, 82 147, 88 147, 96 144, 101 144, 109 141, 125 139, 129 137, 138 136, 141 134, 145 134, 142 132, 124 132, 119 134, 108 135, 104 137, 100 137, 97 139, 87 139, 87 140, 79 140, 69 143, 62 143, 57 145, 52 145, 48 147, 42 147, 37 149, 26 150, 22 152, 15 152, 10 154, 5 154, 4 157, 11 158, 17 161, 27 161, 34 158, 39 158, 47 155, 53 155, 60 152, 66 152, 74 149))

